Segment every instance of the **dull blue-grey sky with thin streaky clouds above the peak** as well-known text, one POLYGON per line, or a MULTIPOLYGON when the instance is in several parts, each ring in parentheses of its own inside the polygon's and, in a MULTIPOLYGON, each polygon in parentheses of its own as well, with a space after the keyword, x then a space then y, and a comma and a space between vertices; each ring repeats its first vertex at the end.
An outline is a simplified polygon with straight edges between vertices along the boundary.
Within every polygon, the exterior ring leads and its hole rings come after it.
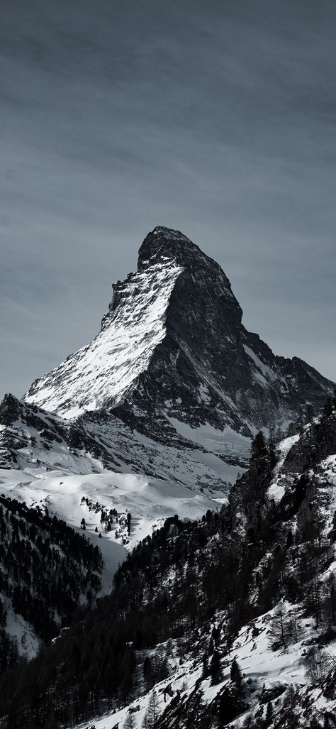
POLYGON ((275 354, 336 380, 336 3, 2 0, 0 396, 181 230, 275 354))

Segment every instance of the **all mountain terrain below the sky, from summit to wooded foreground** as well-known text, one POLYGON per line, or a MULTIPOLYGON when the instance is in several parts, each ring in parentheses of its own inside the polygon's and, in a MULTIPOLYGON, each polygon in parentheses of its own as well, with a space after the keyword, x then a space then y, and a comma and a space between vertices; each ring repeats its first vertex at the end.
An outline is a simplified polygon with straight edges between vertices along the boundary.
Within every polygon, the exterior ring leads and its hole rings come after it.
POLYGON ((0 405, 0 726, 336 725, 335 408, 148 233, 95 339, 0 405))

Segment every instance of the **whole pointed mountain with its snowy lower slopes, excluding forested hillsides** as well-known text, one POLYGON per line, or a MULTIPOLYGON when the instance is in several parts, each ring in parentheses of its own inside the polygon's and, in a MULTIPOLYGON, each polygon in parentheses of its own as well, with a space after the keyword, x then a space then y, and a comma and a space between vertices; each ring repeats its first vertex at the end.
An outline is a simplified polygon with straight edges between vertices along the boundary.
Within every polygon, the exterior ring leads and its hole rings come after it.
POLYGON ((178 231, 149 233, 113 289, 95 340, 0 405, 3 493, 76 528, 85 518, 95 544, 98 529, 105 585, 125 546, 223 502, 257 429, 298 429, 333 389, 244 329, 225 273, 178 231), (132 514, 127 537, 116 521, 102 530, 113 509, 132 514))

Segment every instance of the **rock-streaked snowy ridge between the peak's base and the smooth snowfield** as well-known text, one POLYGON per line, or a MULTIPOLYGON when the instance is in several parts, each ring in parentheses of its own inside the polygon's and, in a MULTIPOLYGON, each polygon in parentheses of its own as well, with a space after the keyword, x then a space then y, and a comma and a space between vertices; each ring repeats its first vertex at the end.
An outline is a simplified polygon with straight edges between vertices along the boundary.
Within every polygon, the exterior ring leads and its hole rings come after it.
MULTIPOLYGON (((233 448, 231 432, 225 435, 219 431, 212 431, 209 441, 194 430, 188 431, 165 445, 108 412, 63 420, 12 396, 0 407, 0 465, 29 471, 36 467, 73 474, 112 470, 226 494, 239 467, 223 459, 223 448, 218 448, 223 440, 233 448)), ((247 459, 248 440, 236 436, 236 441, 231 455, 240 453, 247 459)))

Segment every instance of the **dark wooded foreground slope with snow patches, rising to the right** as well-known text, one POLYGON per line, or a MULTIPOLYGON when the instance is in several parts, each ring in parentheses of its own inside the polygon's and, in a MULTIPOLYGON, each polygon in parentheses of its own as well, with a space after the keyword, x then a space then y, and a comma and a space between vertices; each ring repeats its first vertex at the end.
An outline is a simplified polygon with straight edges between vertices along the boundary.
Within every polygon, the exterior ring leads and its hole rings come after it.
POLYGON ((257 437, 220 512, 169 519, 111 597, 3 679, 2 725, 101 712, 101 727, 119 729, 335 721, 335 452, 330 403, 299 437, 257 437))

